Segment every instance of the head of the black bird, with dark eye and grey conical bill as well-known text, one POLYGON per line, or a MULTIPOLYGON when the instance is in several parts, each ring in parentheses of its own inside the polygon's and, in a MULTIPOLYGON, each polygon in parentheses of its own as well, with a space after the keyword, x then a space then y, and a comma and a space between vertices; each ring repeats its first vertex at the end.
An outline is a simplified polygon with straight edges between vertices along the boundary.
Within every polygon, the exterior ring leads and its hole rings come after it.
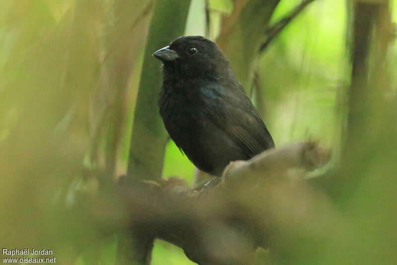
POLYGON ((201 36, 179 37, 153 56, 163 62, 165 72, 177 72, 188 78, 218 79, 229 65, 215 43, 201 36))

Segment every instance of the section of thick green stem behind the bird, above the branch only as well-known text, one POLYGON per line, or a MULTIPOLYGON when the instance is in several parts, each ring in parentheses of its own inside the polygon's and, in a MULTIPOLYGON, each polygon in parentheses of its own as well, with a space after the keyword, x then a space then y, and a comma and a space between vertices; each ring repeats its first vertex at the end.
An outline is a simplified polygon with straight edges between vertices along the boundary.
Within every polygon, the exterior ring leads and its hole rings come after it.
POLYGON ((152 53, 183 35, 189 4, 190 1, 156 1, 135 105, 128 181, 161 178, 167 133, 158 114, 161 63, 152 53))

